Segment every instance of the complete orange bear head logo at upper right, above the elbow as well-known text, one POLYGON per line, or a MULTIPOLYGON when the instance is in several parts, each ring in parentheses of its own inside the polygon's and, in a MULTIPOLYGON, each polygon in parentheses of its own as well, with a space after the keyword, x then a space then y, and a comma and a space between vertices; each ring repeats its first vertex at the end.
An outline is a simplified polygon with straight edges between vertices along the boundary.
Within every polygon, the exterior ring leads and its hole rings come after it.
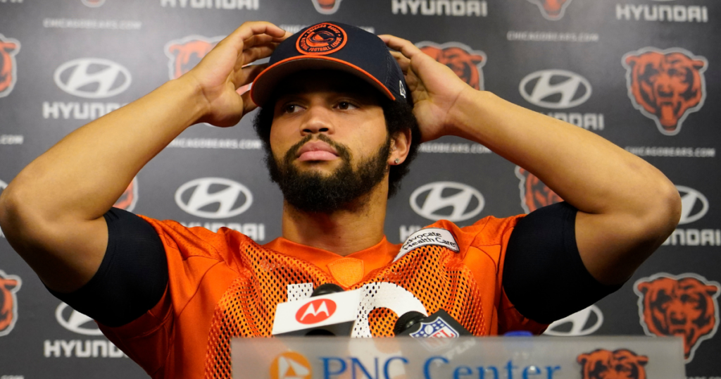
POLYGON ((689 113, 706 100, 706 58, 682 48, 642 48, 622 58, 628 94, 634 108, 656 122, 658 130, 673 136, 689 113))

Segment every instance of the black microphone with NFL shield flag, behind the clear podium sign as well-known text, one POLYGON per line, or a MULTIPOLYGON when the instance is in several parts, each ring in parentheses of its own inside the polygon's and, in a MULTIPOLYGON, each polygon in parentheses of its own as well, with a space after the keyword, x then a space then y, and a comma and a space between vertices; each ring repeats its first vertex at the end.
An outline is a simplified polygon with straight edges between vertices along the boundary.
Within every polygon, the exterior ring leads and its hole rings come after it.
POLYGON ((396 336, 411 336, 415 338, 455 338, 458 336, 473 335, 443 309, 439 309, 428 317, 415 310, 404 313, 396 321, 393 327, 393 333, 396 336))

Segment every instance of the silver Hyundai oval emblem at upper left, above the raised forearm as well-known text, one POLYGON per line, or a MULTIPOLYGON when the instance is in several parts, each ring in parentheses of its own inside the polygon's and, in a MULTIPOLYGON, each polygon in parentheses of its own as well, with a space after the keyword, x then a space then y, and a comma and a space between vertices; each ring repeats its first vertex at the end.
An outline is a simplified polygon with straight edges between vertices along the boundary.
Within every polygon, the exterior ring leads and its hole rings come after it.
POLYGON ((112 97, 131 85, 131 73, 128 69, 102 58, 68 61, 55 70, 53 79, 61 90, 88 99, 112 97))

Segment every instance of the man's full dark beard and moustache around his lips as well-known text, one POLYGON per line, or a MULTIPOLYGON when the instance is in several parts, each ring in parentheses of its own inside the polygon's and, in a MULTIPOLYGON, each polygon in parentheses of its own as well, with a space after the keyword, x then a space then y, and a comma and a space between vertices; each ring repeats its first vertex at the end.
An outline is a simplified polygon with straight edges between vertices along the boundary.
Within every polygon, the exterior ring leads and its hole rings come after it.
POLYGON ((278 183, 288 204, 303 212, 330 214, 340 209, 362 209, 369 200, 366 195, 381 183, 388 172, 390 137, 376 154, 361 161, 358 168, 353 170, 348 148, 324 134, 318 134, 317 139, 335 148, 342 160, 340 167, 330 175, 323 175, 316 170, 303 173, 293 165, 298 149, 311 139, 313 135, 293 145, 282 160, 276 160, 270 147, 267 147, 265 164, 270 170, 270 180, 278 183))

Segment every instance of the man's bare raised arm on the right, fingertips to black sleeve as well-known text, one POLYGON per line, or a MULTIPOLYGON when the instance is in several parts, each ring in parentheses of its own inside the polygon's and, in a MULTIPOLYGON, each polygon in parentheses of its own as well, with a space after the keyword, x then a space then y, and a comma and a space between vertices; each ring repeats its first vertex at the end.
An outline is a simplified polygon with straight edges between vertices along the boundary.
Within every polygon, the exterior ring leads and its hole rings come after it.
POLYGON ((410 41, 381 38, 400 52, 423 141, 461 136, 541 179, 578 209, 578 251, 598 282, 624 282, 673 232, 681 199, 652 165, 583 128, 472 89, 410 41))

